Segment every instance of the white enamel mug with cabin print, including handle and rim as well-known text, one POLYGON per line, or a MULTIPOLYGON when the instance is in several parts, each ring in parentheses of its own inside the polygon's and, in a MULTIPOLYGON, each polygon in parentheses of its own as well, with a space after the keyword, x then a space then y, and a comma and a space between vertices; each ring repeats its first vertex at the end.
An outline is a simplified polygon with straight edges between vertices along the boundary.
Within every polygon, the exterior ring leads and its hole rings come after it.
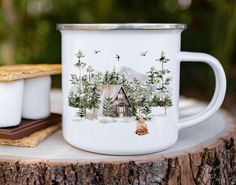
MULTIPOLYGON (((180 51, 184 24, 59 24, 62 34, 63 136, 83 150, 115 155, 158 152, 180 129, 221 106, 219 61, 180 51), (205 62, 216 87, 200 113, 179 119, 180 62, 205 62)), ((196 133, 197 134, 197 133, 196 133)))

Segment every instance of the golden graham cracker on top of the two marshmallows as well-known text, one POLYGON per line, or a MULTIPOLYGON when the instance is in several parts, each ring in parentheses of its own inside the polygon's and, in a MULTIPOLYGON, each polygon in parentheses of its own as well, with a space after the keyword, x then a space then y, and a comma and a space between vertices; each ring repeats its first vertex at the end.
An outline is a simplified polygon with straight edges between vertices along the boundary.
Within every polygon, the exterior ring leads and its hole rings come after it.
POLYGON ((0 67, 0 82, 61 74, 61 64, 18 64, 0 67))

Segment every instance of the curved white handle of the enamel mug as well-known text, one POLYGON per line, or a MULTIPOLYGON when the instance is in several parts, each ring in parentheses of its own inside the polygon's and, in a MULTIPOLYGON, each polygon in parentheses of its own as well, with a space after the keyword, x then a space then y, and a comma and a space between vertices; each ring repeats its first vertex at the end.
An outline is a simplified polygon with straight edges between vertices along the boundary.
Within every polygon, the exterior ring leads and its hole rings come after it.
POLYGON ((182 129, 206 120, 220 108, 226 92, 226 77, 224 69, 220 62, 215 57, 209 54, 196 52, 180 52, 179 61, 207 63, 213 69, 215 75, 215 92, 210 103, 201 112, 180 119, 178 128, 182 129))

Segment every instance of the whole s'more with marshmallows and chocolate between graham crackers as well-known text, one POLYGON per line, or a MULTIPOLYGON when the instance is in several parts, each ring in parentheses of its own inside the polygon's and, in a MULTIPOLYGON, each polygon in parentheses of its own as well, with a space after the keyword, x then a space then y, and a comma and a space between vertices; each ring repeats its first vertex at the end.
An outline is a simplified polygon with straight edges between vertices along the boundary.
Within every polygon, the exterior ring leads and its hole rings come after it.
POLYGON ((50 112, 51 75, 60 64, 0 67, 0 145, 34 147, 60 128, 50 112))

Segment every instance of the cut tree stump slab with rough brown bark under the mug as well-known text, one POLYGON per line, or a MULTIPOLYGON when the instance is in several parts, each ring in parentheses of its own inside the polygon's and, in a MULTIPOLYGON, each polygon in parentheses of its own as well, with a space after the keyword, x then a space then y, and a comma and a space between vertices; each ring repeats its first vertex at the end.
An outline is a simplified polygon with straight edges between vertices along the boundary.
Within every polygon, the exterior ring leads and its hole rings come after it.
MULTIPOLYGON (((202 106, 184 99, 182 115, 202 106)), ((168 150, 141 156, 78 150, 59 131, 36 148, 0 146, 0 184, 232 185, 236 184, 235 128, 234 118, 220 110, 207 121, 181 130, 168 150)))

